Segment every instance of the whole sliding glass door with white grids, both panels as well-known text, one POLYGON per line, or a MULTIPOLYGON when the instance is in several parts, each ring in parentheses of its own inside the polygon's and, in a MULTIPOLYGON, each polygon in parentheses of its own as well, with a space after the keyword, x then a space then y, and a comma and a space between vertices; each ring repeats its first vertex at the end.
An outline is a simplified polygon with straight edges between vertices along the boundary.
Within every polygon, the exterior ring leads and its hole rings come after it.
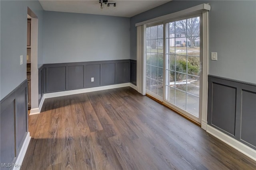
POLYGON ((200 42, 200 16, 146 28, 146 93, 198 122, 200 42))

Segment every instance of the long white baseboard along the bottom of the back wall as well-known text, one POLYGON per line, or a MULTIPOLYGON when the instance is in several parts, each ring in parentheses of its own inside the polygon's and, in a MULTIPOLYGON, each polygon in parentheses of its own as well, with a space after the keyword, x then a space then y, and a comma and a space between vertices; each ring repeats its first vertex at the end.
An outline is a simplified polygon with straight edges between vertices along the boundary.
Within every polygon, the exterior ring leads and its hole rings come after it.
POLYGON ((53 92, 53 93, 45 93, 44 99, 46 98, 55 98, 60 96, 68 96, 72 94, 80 94, 80 93, 87 93, 87 92, 95 92, 99 90, 108 90, 112 88, 120 88, 120 87, 128 87, 130 86, 130 83, 123 83, 123 84, 114 84, 109 86, 100 86, 100 87, 93 87, 93 88, 83 88, 78 90, 68 90, 63 92, 53 92))

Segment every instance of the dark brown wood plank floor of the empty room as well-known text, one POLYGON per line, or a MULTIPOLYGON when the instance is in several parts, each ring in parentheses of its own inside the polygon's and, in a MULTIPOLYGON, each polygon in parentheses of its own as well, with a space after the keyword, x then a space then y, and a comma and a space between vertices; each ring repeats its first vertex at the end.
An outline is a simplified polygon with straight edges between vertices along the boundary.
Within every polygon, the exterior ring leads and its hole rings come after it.
POLYGON ((130 87, 46 99, 22 170, 255 170, 256 162, 130 87))

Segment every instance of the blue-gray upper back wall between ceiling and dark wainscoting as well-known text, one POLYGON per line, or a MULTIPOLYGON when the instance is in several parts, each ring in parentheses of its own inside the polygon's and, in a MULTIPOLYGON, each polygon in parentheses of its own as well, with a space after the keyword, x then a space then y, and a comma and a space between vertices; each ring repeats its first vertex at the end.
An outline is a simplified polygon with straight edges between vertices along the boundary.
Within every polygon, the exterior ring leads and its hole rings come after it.
POLYGON ((130 59, 130 18, 44 12, 44 63, 130 59))

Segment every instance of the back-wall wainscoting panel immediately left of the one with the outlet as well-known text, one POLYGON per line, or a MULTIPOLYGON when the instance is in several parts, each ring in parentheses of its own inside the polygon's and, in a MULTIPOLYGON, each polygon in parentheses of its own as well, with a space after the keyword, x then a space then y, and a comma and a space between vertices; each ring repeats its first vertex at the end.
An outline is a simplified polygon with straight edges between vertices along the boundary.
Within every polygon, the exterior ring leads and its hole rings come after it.
POLYGON ((67 90, 84 88, 84 65, 70 65, 67 72, 67 90))

